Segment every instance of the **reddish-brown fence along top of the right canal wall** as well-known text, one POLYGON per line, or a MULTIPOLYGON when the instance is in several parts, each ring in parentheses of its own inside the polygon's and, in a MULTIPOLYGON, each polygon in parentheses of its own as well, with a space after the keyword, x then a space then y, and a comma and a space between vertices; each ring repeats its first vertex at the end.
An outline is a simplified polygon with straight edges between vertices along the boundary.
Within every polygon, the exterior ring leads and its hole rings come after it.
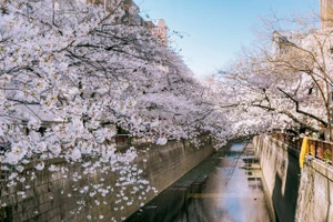
MULTIPOLYGON (((272 138, 289 144, 290 147, 301 150, 303 138, 295 137, 287 133, 272 133, 272 138)), ((326 163, 333 163, 333 143, 323 140, 316 140, 314 138, 309 138, 309 153, 310 155, 322 160, 326 163)))

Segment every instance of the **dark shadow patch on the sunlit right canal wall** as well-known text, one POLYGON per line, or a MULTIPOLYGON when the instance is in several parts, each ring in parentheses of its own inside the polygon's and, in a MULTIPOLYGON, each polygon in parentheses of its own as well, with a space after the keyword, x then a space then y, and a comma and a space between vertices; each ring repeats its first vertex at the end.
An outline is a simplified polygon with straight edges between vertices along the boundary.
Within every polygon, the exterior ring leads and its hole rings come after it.
POLYGON ((281 169, 276 169, 275 173, 272 198, 276 221, 280 222, 294 222, 296 215, 301 169, 293 152, 294 149, 287 149, 287 159, 283 160, 281 169))

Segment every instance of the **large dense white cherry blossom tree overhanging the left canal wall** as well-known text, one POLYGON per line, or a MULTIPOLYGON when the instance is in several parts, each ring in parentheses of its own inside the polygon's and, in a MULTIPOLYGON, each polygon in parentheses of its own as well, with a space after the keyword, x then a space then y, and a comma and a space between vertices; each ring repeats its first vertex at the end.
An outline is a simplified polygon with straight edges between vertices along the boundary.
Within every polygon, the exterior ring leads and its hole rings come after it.
POLYGON ((204 88, 150 30, 123 22, 122 3, 113 0, 105 10, 80 1, 1 2, 0 162, 9 175, 0 188, 3 208, 11 204, 11 188, 27 198, 44 170, 69 176, 69 167, 53 163, 60 159, 80 163, 73 181, 88 181, 64 193, 77 198, 73 213, 85 208, 87 196, 100 204, 97 196, 123 196, 128 189, 133 195, 117 200, 123 209, 135 193, 154 189, 131 164, 135 149, 120 152, 111 142, 114 125, 158 144, 206 129, 204 88), (103 179, 110 174, 117 181, 103 179))

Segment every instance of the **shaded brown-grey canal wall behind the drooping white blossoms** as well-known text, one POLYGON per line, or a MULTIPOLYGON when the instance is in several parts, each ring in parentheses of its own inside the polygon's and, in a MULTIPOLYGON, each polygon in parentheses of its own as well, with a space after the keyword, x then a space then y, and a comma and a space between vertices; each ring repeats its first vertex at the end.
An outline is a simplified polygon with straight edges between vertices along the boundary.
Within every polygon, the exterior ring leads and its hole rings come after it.
MULTIPOLYGON (((151 182, 150 185, 157 188, 159 192, 175 182, 214 151, 211 140, 208 139, 202 142, 200 148, 195 148, 188 141, 169 141, 165 145, 147 144, 142 149, 138 149, 140 150, 140 157, 137 158, 133 164, 138 164, 138 168, 143 169, 144 178, 149 180, 151 182)), ((140 201, 140 203, 134 202, 122 211, 114 211, 114 208, 117 208, 114 204, 117 198, 113 193, 109 193, 103 198, 108 204, 101 203, 98 205, 94 204, 94 200, 90 200, 90 202, 88 200, 87 209, 79 214, 72 214, 71 212, 78 208, 78 199, 74 195, 69 199, 68 194, 73 193, 72 173, 75 172, 74 169, 80 168, 80 164, 70 165, 61 160, 54 160, 52 163, 59 168, 69 168, 69 176, 63 178, 60 172, 51 173, 49 171, 42 171, 24 199, 17 195, 16 190, 9 189, 12 204, 0 208, 0 221, 109 222, 112 218, 117 221, 121 221, 122 218, 127 218, 135 212, 140 208, 141 202, 147 203, 155 196, 153 192, 149 192, 145 196, 147 199, 140 201), (87 218, 88 215, 91 215, 91 220, 87 218), (103 218, 100 218, 100 215, 103 215, 103 218)), ((109 180, 110 183, 115 181, 112 175, 109 178, 105 178, 105 175, 95 175, 91 180, 98 181, 101 178, 109 180)), ((85 182, 87 181, 82 179, 82 181, 80 181, 81 186, 84 185, 85 182)), ((118 189, 120 190, 121 188, 118 189)))

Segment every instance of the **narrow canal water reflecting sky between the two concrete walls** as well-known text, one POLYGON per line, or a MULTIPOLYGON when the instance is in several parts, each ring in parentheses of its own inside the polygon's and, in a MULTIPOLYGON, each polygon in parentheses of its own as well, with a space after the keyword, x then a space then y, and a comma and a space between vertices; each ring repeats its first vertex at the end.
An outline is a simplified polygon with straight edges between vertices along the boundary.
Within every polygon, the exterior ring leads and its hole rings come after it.
POLYGON ((252 143, 233 142, 202 161, 128 222, 270 222, 252 143))

